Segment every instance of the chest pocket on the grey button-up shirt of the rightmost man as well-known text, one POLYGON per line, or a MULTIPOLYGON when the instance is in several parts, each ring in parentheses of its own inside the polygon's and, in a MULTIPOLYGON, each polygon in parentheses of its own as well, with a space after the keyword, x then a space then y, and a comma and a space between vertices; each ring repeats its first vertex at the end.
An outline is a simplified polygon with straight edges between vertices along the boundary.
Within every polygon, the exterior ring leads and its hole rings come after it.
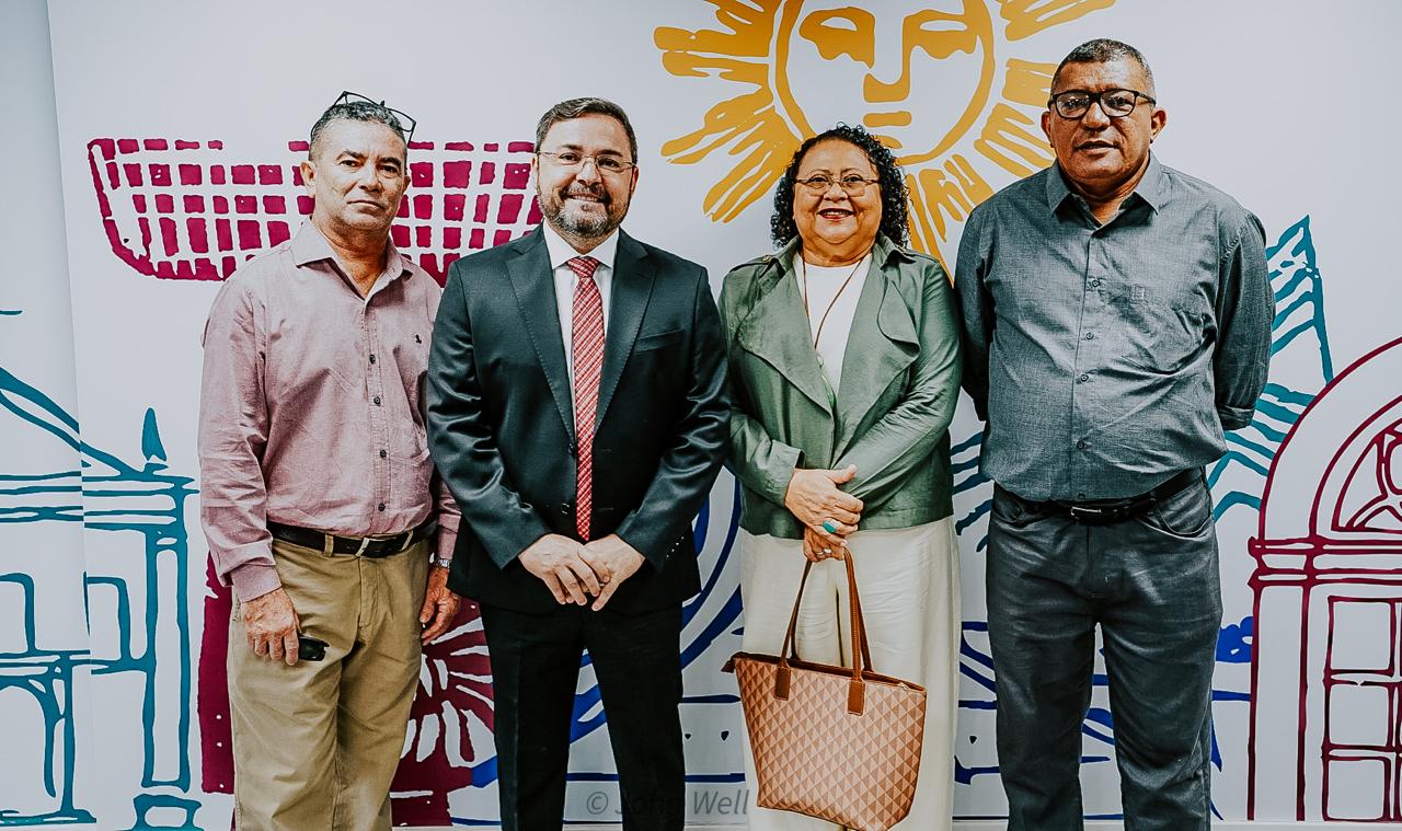
POLYGON ((1110 297, 1117 355, 1131 367, 1172 374, 1203 349, 1203 315, 1187 293, 1127 283, 1110 297))

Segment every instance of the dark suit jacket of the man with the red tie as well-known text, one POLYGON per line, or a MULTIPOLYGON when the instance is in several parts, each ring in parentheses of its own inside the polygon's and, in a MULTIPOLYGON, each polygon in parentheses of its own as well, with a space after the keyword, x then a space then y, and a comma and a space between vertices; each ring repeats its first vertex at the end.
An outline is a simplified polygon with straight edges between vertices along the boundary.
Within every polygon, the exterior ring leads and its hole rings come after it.
MULTIPOLYGON (((646 563, 608 601, 700 587, 691 518, 728 440, 725 346, 705 269, 620 231, 594 427, 592 534, 646 563)), ((433 329, 428 433, 463 509, 449 586, 524 612, 555 598, 517 555, 575 531, 575 416, 544 234, 453 263, 433 329)))

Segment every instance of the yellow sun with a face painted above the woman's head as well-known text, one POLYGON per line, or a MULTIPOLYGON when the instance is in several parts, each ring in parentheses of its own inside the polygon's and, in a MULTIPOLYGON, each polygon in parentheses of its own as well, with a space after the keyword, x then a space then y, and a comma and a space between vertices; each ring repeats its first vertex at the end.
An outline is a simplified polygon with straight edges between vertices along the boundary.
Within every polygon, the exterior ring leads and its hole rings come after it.
POLYGON ((1037 62, 1012 56, 1011 45, 1115 4, 708 1, 721 28, 653 32, 670 74, 743 87, 662 146, 673 164, 719 150, 736 157, 707 192, 707 216, 733 220, 770 193, 803 139, 861 123, 906 168, 913 245, 941 259, 949 226, 993 195, 990 175, 1021 178, 1053 160, 1037 118, 1060 55, 1037 62))

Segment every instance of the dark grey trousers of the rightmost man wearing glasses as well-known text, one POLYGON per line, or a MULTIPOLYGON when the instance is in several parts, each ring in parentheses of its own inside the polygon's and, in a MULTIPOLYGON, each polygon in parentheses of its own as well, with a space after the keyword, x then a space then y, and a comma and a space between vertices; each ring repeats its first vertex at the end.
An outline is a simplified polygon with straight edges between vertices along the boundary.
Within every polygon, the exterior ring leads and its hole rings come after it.
POLYGON ((1206 483, 1098 527, 997 488, 987 589, 1008 830, 1085 827, 1081 723, 1099 624, 1124 828, 1207 831, 1221 587, 1206 483))

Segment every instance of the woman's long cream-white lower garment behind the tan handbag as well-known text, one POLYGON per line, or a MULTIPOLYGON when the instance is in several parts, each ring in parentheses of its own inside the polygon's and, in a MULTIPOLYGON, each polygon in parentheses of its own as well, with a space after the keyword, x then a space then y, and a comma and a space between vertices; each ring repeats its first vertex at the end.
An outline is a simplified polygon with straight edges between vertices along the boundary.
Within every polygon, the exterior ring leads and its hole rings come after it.
MULTIPOLYGON (((896 531, 857 531, 847 538, 875 670, 925 687, 925 736, 910 813, 894 828, 948 831, 953 817, 953 740, 959 705, 959 548, 953 517, 896 531)), ((778 654, 798 583, 799 540, 756 537, 740 530, 740 649, 778 654)), ((798 612, 803 660, 852 666, 847 612, 847 568, 826 559, 813 566, 798 612)), ((744 737, 744 776, 753 831, 827 831, 833 823, 758 807, 754 754, 744 737)))

